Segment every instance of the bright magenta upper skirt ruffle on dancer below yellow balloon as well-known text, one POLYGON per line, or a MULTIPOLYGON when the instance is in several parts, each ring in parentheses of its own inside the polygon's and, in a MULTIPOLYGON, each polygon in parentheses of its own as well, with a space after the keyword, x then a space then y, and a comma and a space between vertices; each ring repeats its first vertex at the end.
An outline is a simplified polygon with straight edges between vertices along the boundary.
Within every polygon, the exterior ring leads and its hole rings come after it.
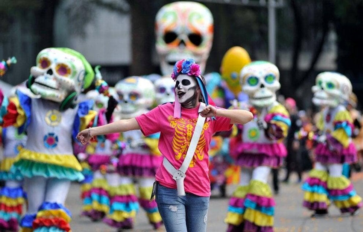
POLYGON ((283 143, 260 144, 260 143, 238 143, 236 147, 231 148, 233 157, 238 157, 241 153, 264 154, 266 156, 285 157, 287 155, 286 147, 283 143))

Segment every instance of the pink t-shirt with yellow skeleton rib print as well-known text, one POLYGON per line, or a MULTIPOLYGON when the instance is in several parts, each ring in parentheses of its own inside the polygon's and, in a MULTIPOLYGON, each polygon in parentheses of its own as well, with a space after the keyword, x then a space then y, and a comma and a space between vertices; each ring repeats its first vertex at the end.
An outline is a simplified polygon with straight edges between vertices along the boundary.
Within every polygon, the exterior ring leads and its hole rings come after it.
MULTIPOLYGON (((181 109, 181 118, 174 115, 174 103, 159 105, 143 115, 137 116, 142 133, 147 136, 160 131, 158 148, 164 157, 176 168, 180 168, 187 154, 198 118, 199 106, 193 109, 181 109)), ((208 150, 212 135, 217 131, 232 128, 231 119, 217 117, 217 120, 205 121, 204 128, 194 153, 194 157, 184 179, 185 192, 197 196, 210 196, 211 184, 208 177, 208 150)), ((160 165, 156 171, 156 181, 168 188, 176 188, 171 174, 160 165)))

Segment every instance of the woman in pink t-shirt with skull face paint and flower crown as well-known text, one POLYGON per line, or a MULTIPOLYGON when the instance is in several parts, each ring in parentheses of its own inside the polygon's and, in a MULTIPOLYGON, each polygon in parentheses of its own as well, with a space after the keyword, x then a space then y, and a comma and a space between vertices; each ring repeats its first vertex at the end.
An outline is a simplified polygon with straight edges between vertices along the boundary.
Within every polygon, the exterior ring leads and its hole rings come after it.
POLYGON ((208 177, 211 137, 217 131, 231 129, 232 124, 248 123, 253 115, 245 110, 215 107, 205 89, 199 65, 193 59, 176 62, 171 77, 176 81, 175 102, 159 105, 150 112, 132 119, 85 129, 78 133, 77 139, 86 144, 96 135, 136 129, 140 129, 145 136, 160 132, 158 147, 164 161, 156 171, 153 193, 165 228, 172 232, 201 232, 207 228, 207 211, 211 195, 208 177), (199 114, 206 119, 203 119, 204 124, 201 124, 200 136, 197 136, 199 140, 195 141, 195 151, 189 158, 191 161, 186 165, 183 195, 182 187, 177 188, 176 180, 173 179, 175 173, 171 174, 170 167, 183 170, 181 165, 186 158, 189 145, 193 143, 192 135, 198 127, 199 114))

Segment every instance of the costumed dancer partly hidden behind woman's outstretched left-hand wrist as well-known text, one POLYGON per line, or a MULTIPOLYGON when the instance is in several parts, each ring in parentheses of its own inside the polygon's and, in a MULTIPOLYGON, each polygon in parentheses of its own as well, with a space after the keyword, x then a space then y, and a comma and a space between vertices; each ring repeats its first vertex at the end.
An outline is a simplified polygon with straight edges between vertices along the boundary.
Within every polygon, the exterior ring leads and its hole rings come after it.
MULTIPOLYGON (((118 104, 117 100, 110 95, 108 84, 102 80, 99 66, 95 67, 95 87, 94 91, 89 91, 86 94, 86 97, 93 100, 92 107, 97 112, 92 127, 113 122, 112 114, 118 104)), ((110 210, 110 197, 105 176, 107 171, 110 171, 108 169, 109 165, 112 165, 113 158, 117 159, 114 157, 117 156, 117 151, 113 148, 118 137, 119 133, 97 136, 86 147, 86 153, 78 154, 78 156, 85 156, 83 160, 86 161, 91 168, 91 173, 93 173, 90 189, 84 193, 82 205, 82 215, 89 217, 92 221, 102 219, 110 210)), ((84 187, 86 188, 87 185, 84 187)))

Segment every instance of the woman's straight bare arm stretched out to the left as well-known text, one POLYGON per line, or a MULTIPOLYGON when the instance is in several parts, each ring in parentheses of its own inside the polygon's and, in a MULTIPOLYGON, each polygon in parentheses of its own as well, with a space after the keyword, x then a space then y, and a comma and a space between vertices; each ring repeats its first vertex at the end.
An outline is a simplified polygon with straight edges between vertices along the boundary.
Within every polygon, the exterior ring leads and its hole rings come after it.
POLYGON ((140 129, 140 126, 135 118, 122 119, 113 123, 109 123, 107 125, 84 129, 83 131, 78 133, 76 138, 79 142, 81 142, 82 145, 85 145, 93 136, 107 135, 111 133, 132 131, 138 129, 140 129))

